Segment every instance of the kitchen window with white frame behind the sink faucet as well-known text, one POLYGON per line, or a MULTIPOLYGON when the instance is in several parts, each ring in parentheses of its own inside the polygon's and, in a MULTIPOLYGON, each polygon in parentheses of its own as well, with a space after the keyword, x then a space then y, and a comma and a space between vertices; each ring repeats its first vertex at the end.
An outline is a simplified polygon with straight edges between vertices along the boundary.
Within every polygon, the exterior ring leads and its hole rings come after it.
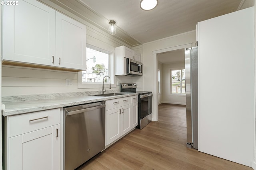
MULTIPOLYGON (((87 45, 86 70, 78 72, 78 88, 102 88, 104 76, 110 76, 111 86, 114 85, 113 56, 113 53, 87 45)), ((109 79, 105 78, 104 83, 109 84, 109 79)))

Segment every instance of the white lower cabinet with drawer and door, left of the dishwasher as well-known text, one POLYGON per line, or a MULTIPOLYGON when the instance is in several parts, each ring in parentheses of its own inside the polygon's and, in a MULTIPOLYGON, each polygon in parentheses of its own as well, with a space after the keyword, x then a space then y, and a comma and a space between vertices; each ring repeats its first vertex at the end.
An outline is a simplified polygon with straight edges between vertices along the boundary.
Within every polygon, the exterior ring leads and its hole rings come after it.
POLYGON ((60 170, 60 130, 60 109, 6 118, 4 168, 6 170, 60 170), (16 121, 20 123, 14 124, 16 121), (27 125, 31 128, 27 128, 27 125), (37 127, 36 130, 34 130, 35 127, 37 127), (14 131, 20 131, 20 129, 25 133, 16 135, 14 131), (10 137, 12 134, 15 136, 10 137))

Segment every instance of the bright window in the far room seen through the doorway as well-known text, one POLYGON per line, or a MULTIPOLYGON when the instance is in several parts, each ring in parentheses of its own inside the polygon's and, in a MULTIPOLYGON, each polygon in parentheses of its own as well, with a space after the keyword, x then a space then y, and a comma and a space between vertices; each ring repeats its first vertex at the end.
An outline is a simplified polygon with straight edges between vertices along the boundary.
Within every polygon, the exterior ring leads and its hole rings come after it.
POLYGON ((172 94, 186 94, 185 92, 185 69, 171 70, 172 94))

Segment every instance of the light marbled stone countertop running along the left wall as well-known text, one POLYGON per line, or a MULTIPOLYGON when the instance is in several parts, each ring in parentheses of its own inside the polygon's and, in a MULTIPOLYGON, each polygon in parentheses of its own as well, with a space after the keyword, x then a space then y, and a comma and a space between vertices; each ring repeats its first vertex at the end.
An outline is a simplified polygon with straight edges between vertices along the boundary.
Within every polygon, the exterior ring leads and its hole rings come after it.
POLYGON ((4 104, 2 114, 4 116, 12 116, 138 95, 138 93, 119 92, 116 90, 108 90, 106 93, 123 93, 123 95, 106 97, 90 96, 94 94, 101 94, 101 91, 90 91, 58 94, 2 96, 2 104, 4 104))

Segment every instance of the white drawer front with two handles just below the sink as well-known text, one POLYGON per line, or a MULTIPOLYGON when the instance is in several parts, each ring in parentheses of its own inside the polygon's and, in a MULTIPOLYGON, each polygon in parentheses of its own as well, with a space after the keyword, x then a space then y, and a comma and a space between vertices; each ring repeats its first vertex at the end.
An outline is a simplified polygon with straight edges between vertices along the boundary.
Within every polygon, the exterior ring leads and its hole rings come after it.
POLYGON ((118 98, 106 101, 106 110, 114 109, 116 107, 121 107, 127 104, 131 104, 131 97, 118 98))

